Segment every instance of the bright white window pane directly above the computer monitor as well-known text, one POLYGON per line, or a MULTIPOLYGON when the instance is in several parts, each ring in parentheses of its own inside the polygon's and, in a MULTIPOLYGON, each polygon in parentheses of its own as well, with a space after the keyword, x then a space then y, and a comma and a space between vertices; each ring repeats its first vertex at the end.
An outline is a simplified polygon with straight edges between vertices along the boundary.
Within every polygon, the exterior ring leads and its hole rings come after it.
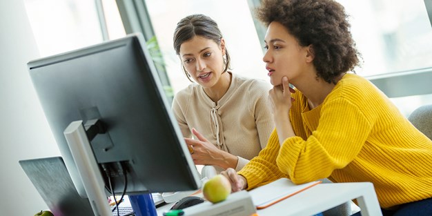
POLYGON ((103 41, 95 1, 25 0, 41 57, 103 41))

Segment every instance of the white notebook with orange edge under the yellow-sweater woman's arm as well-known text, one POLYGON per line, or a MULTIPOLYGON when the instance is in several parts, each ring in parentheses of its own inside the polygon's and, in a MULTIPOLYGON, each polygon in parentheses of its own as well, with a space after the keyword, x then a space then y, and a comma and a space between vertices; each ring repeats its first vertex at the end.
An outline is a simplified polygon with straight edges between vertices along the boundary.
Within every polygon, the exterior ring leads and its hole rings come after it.
POLYGON ((311 188, 322 181, 311 181, 306 184, 294 184, 287 178, 277 179, 269 184, 249 191, 253 204, 257 209, 267 208, 277 202, 311 188))

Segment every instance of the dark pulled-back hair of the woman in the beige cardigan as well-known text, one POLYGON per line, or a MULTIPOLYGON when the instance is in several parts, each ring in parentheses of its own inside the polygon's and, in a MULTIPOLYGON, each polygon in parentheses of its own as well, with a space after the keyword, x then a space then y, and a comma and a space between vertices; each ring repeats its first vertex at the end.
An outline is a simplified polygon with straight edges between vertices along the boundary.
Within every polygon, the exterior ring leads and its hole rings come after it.
MULTIPOLYGON (((219 30, 216 21, 207 17, 204 14, 192 14, 184 17, 177 23, 177 27, 174 31, 173 36, 173 46, 174 50, 179 55, 181 43, 184 43, 195 36, 205 37, 215 41, 217 45, 221 45, 222 32, 219 30)), ((225 47, 225 58, 224 58, 224 72, 230 69, 230 55, 228 54, 228 49, 225 47)), ((190 81, 190 75, 181 65, 183 72, 188 77, 190 81)), ((193 81, 192 81, 193 82, 193 81)))

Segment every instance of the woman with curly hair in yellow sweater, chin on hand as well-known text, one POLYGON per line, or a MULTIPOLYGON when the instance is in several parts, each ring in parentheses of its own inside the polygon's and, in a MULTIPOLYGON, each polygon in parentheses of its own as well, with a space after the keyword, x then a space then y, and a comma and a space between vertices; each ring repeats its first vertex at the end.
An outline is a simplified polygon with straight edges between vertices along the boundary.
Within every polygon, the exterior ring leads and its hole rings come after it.
POLYGON ((275 130, 239 173, 223 172, 233 191, 281 177, 370 181, 384 215, 432 215, 432 141, 350 73, 359 54, 340 3, 264 0, 257 17, 268 26, 263 60, 275 130))

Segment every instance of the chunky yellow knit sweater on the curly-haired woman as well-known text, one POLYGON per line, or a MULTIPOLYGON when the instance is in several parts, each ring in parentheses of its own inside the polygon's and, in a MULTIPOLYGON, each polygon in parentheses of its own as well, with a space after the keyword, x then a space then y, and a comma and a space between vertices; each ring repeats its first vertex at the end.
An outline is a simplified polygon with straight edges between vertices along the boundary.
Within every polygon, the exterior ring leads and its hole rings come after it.
POLYGON ((372 182, 382 208, 432 197, 432 141, 369 81, 344 75, 313 110, 300 91, 293 97, 297 136, 280 147, 273 131, 266 148, 239 171, 248 189, 280 177, 295 184, 328 177, 372 182))

